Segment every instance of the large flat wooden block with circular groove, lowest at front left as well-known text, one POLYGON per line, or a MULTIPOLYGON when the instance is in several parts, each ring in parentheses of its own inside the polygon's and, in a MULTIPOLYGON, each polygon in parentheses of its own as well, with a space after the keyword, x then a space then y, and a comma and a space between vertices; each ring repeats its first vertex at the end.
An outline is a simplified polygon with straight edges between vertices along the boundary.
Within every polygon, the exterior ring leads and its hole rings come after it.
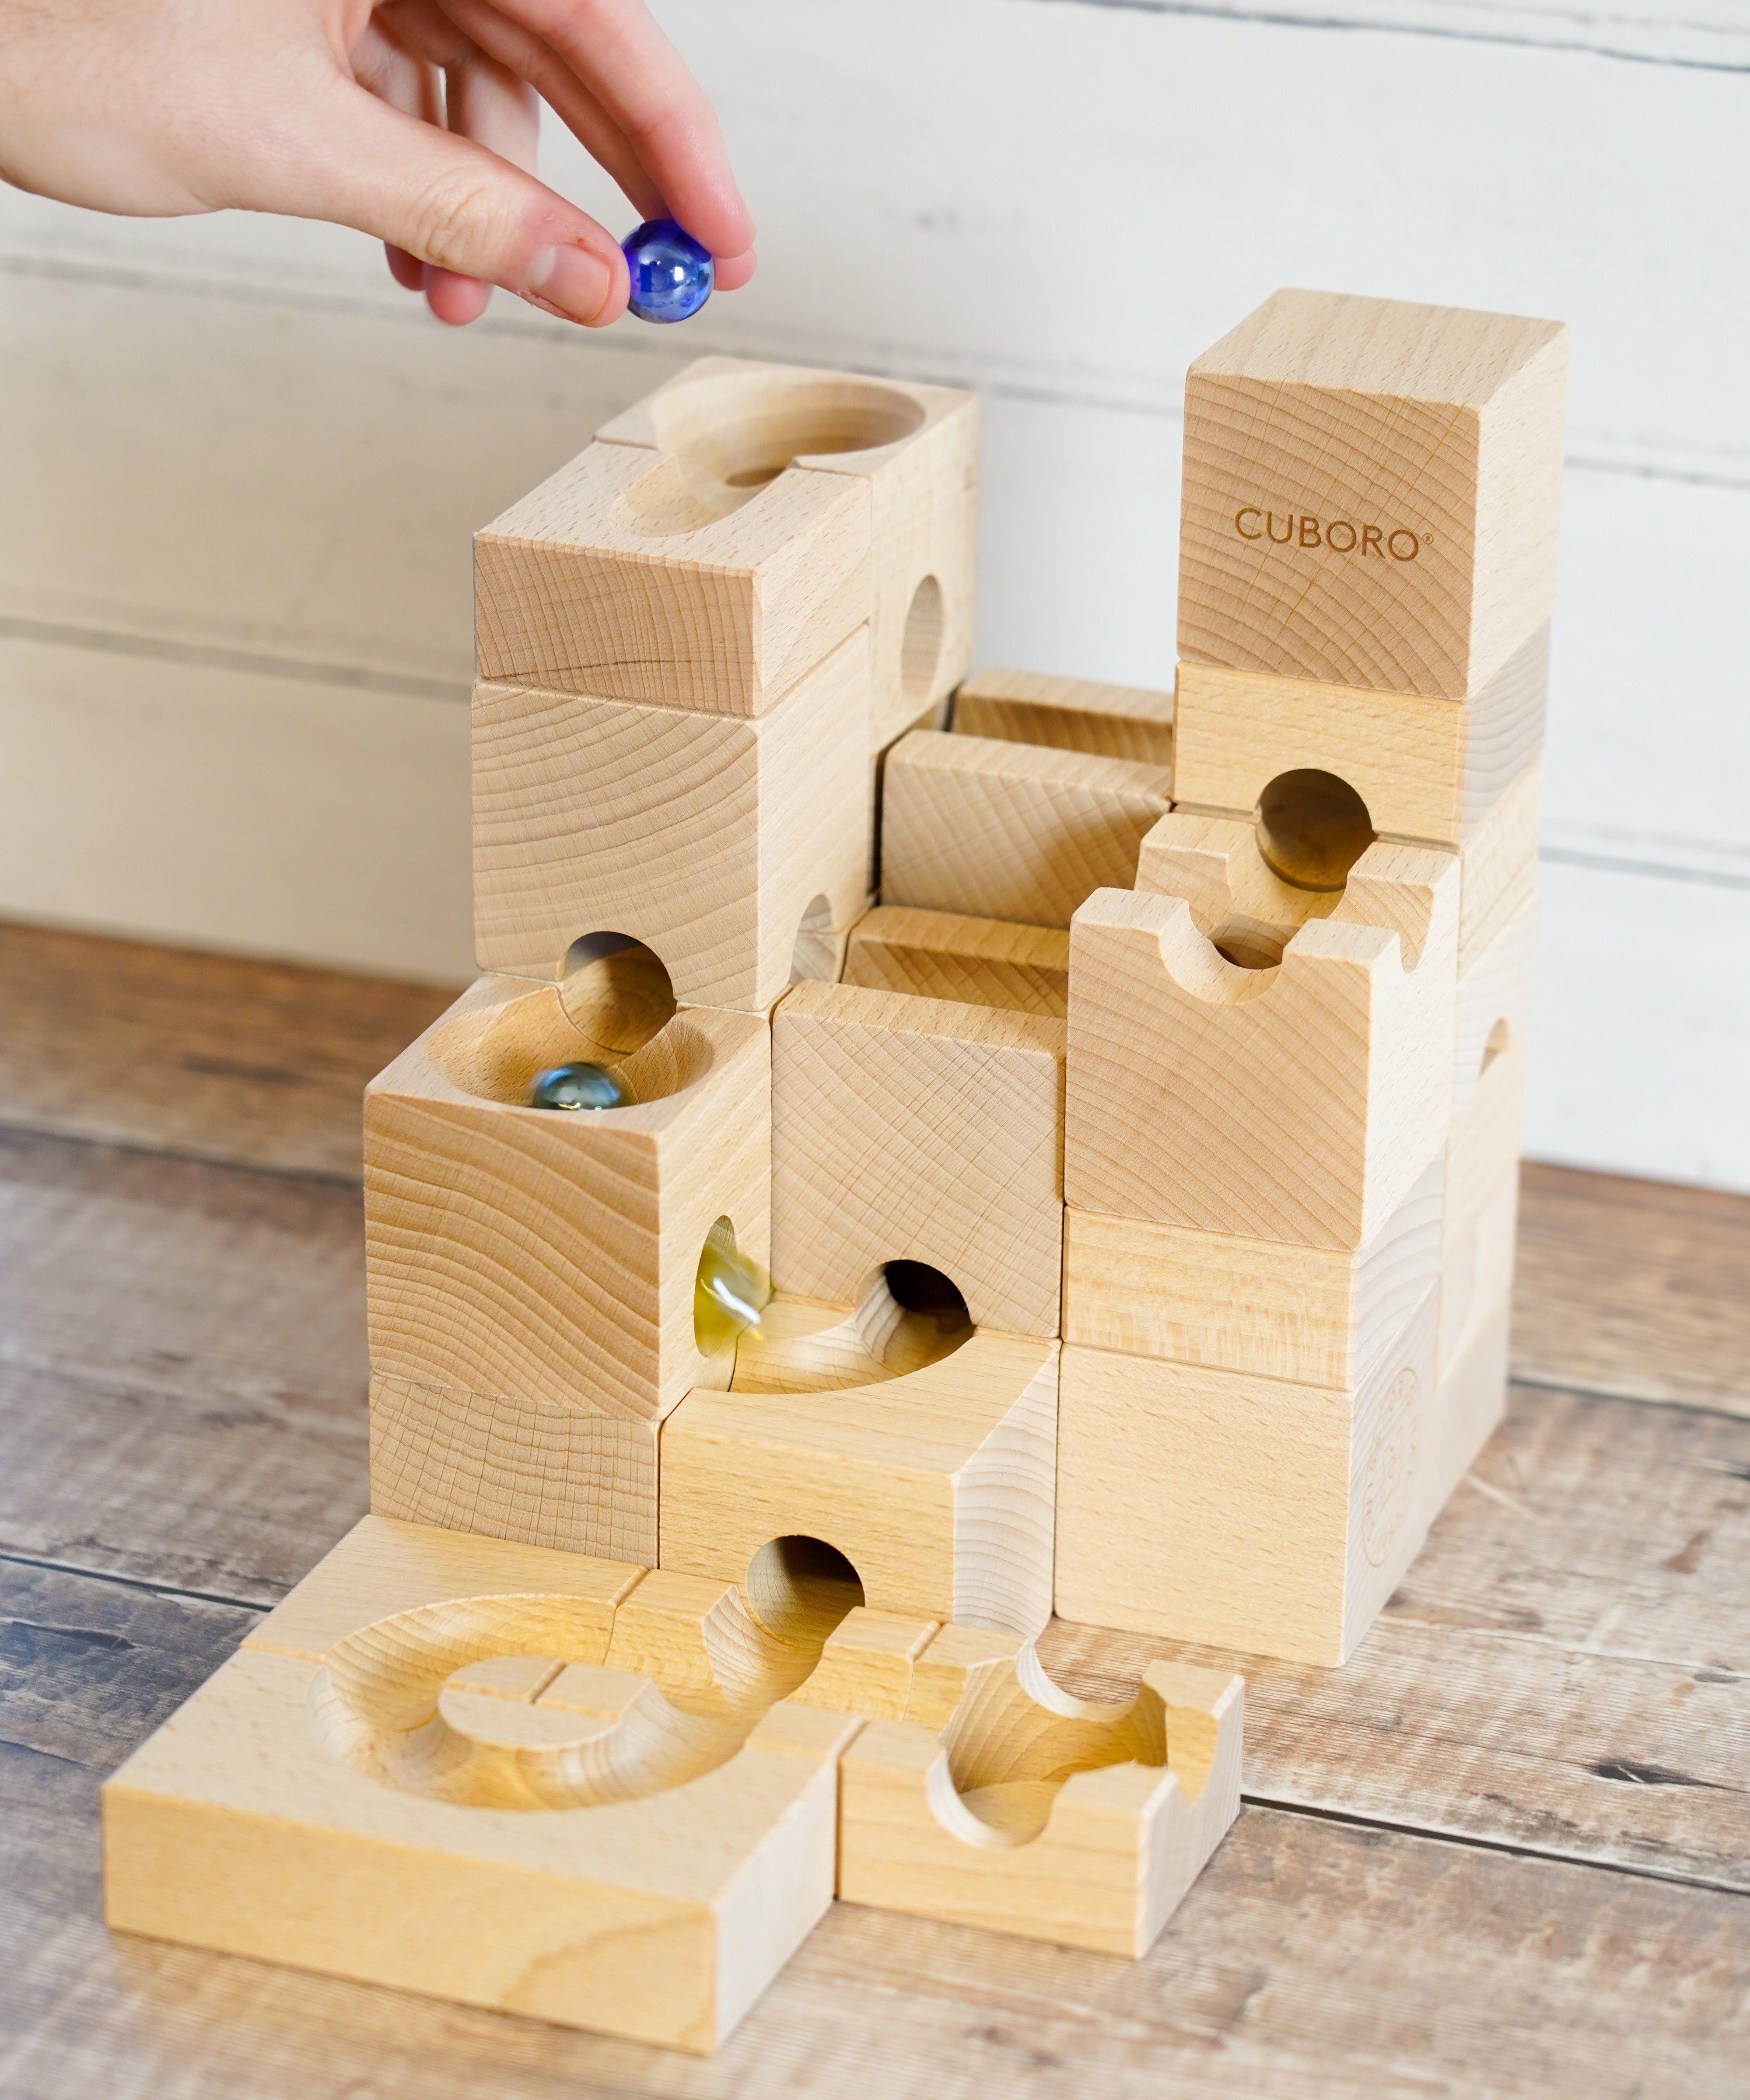
POLYGON ((708 2052, 832 1898, 857 1724, 765 1697, 807 1642, 689 1712, 601 1667, 601 1564, 433 1533, 408 1604, 414 1554, 378 1567, 384 1537, 282 1606, 319 1657, 246 1646, 105 1785, 109 1924, 708 2052), (517 1590, 477 1594, 483 1558, 517 1590), (483 1697, 496 1657, 565 1667, 483 1697))

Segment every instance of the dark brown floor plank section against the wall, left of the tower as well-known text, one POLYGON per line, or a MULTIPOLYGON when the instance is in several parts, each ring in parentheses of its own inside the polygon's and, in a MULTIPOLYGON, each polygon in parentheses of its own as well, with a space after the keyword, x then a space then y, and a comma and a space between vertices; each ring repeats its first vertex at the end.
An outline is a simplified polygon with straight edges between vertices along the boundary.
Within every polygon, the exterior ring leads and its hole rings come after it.
POLYGON ((359 1176, 359 1096, 456 995, 0 922, 0 1124, 359 1176))

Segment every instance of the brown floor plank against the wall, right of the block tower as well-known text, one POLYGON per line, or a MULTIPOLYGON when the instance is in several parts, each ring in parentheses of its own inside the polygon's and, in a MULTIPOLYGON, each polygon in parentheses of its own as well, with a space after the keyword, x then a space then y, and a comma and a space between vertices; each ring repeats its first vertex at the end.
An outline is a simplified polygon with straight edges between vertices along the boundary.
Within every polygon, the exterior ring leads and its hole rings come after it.
POLYGON ((1750 1415, 1750 1197, 1527 1161, 1513 1367, 1750 1415))

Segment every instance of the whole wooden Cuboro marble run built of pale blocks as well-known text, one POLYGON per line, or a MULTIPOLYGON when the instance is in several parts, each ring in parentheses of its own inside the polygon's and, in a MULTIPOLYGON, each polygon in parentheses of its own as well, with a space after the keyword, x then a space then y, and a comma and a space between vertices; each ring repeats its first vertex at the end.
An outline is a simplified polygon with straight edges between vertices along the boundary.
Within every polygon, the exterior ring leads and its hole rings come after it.
POLYGON ((973 674, 952 388, 708 357, 479 533, 372 1514, 105 1787, 113 1926, 697 2052, 834 1896, 1147 1953, 1244 1684, 1053 1611, 1338 1665, 1502 1407, 1565 361, 1242 321, 1174 693, 973 674))

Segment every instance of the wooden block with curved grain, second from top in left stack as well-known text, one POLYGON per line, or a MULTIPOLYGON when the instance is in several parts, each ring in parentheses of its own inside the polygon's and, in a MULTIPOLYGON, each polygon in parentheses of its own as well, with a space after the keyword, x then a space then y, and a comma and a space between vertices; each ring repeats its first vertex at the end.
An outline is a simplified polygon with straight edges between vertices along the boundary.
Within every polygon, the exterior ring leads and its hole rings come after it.
POLYGON ((611 930, 685 1004, 771 1006, 798 934, 842 939, 868 895, 868 674, 857 628, 758 720, 477 687, 481 968, 557 979, 611 930))

